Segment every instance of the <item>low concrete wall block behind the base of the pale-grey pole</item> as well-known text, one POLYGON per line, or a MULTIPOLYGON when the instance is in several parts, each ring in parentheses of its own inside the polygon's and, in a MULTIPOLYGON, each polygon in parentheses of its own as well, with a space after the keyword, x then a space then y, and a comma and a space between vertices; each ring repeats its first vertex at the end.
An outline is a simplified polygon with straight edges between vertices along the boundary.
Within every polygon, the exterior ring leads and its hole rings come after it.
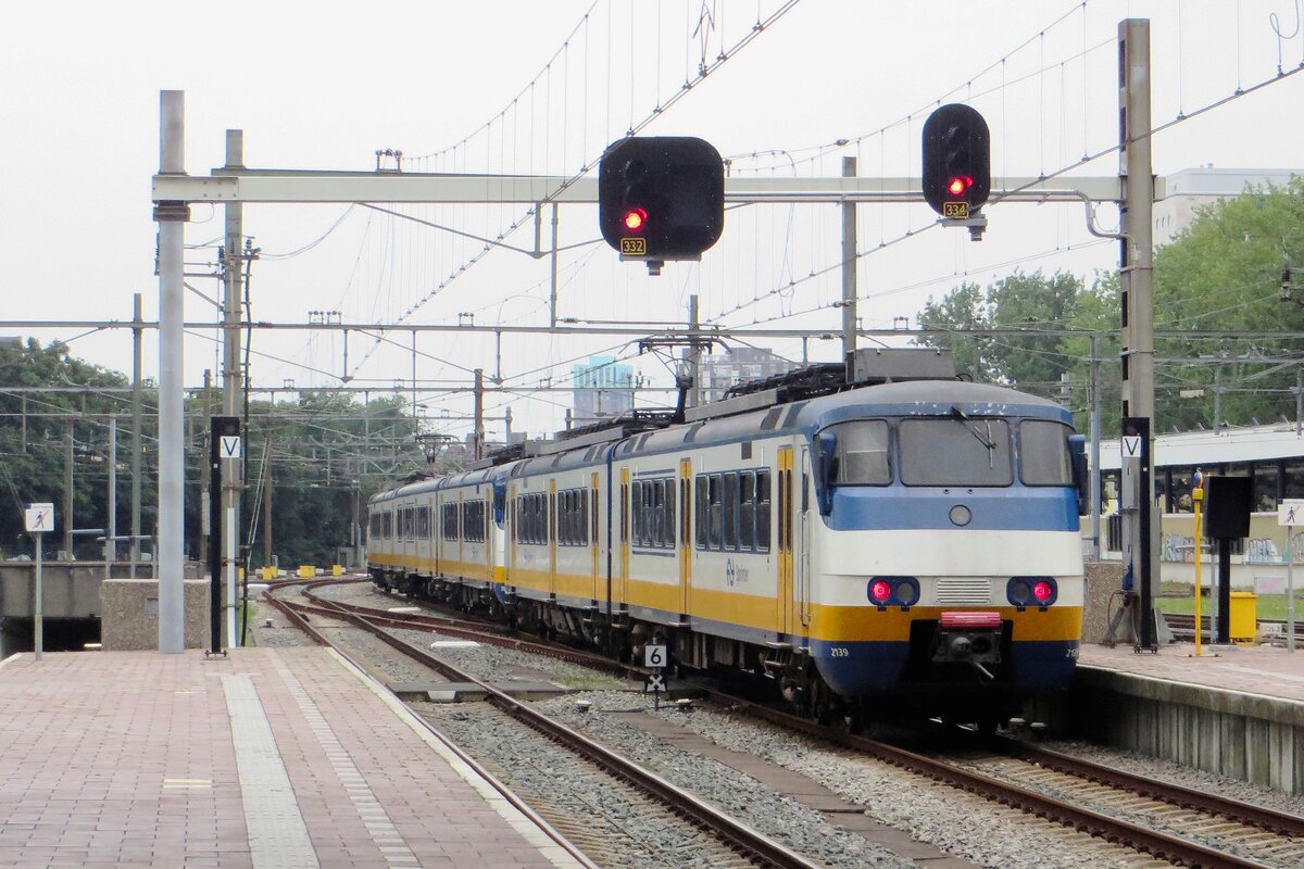
MULTIPOLYGON (((104 580, 99 586, 100 642, 106 651, 159 648, 158 580, 104 580)), ((185 581, 185 648, 209 645, 209 582, 185 581)))

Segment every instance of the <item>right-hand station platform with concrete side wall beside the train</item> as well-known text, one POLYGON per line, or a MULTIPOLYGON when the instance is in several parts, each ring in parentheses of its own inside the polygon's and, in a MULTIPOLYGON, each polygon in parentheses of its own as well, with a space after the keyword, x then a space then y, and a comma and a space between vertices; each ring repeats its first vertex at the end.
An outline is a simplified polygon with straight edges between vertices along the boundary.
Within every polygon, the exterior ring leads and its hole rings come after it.
POLYGON ((1304 793, 1304 648, 1082 644, 1056 730, 1304 793))

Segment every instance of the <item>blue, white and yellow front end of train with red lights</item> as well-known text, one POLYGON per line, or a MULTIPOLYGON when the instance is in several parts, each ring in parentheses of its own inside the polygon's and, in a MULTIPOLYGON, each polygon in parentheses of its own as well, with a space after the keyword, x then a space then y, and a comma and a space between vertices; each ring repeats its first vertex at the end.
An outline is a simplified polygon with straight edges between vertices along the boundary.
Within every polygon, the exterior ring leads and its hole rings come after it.
POLYGON ((1085 474, 1065 421, 1031 410, 846 420, 815 435, 808 648, 835 693, 1009 713, 1067 687, 1085 474))

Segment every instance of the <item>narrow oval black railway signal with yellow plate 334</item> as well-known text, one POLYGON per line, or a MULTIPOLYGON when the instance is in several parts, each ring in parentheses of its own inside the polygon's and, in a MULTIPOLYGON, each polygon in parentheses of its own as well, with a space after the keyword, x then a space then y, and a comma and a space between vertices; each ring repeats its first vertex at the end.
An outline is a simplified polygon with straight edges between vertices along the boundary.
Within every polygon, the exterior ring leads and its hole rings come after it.
POLYGON ((969 220, 990 194, 987 121, 969 106, 943 106, 923 124, 923 198, 948 220, 969 220))

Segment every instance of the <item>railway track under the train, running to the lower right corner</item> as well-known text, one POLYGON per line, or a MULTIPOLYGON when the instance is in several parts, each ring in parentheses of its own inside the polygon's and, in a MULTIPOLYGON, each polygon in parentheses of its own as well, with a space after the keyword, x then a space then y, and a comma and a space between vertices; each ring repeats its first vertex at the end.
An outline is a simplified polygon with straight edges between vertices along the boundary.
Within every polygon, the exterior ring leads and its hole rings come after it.
MULTIPOLYGON (((338 605, 317 598, 312 606, 340 618, 338 605)), ((381 608, 369 608, 368 612, 368 618, 377 624, 462 632, 462 636, 481 642, 548 654, 608 672, 642 672, 591 653, 524 641, 501 631, 486 632, 479 621, 395 614, 381 608)), ((966 744, 957 757, 911 752, 845 730, 822 727, 767 704, 711 687, 699 688, 721 707, 806 734, 1158 860, 1210 869, 1304 864, 1304 818, 1297 816, 1134 776, 1013 740, 966 744)))

